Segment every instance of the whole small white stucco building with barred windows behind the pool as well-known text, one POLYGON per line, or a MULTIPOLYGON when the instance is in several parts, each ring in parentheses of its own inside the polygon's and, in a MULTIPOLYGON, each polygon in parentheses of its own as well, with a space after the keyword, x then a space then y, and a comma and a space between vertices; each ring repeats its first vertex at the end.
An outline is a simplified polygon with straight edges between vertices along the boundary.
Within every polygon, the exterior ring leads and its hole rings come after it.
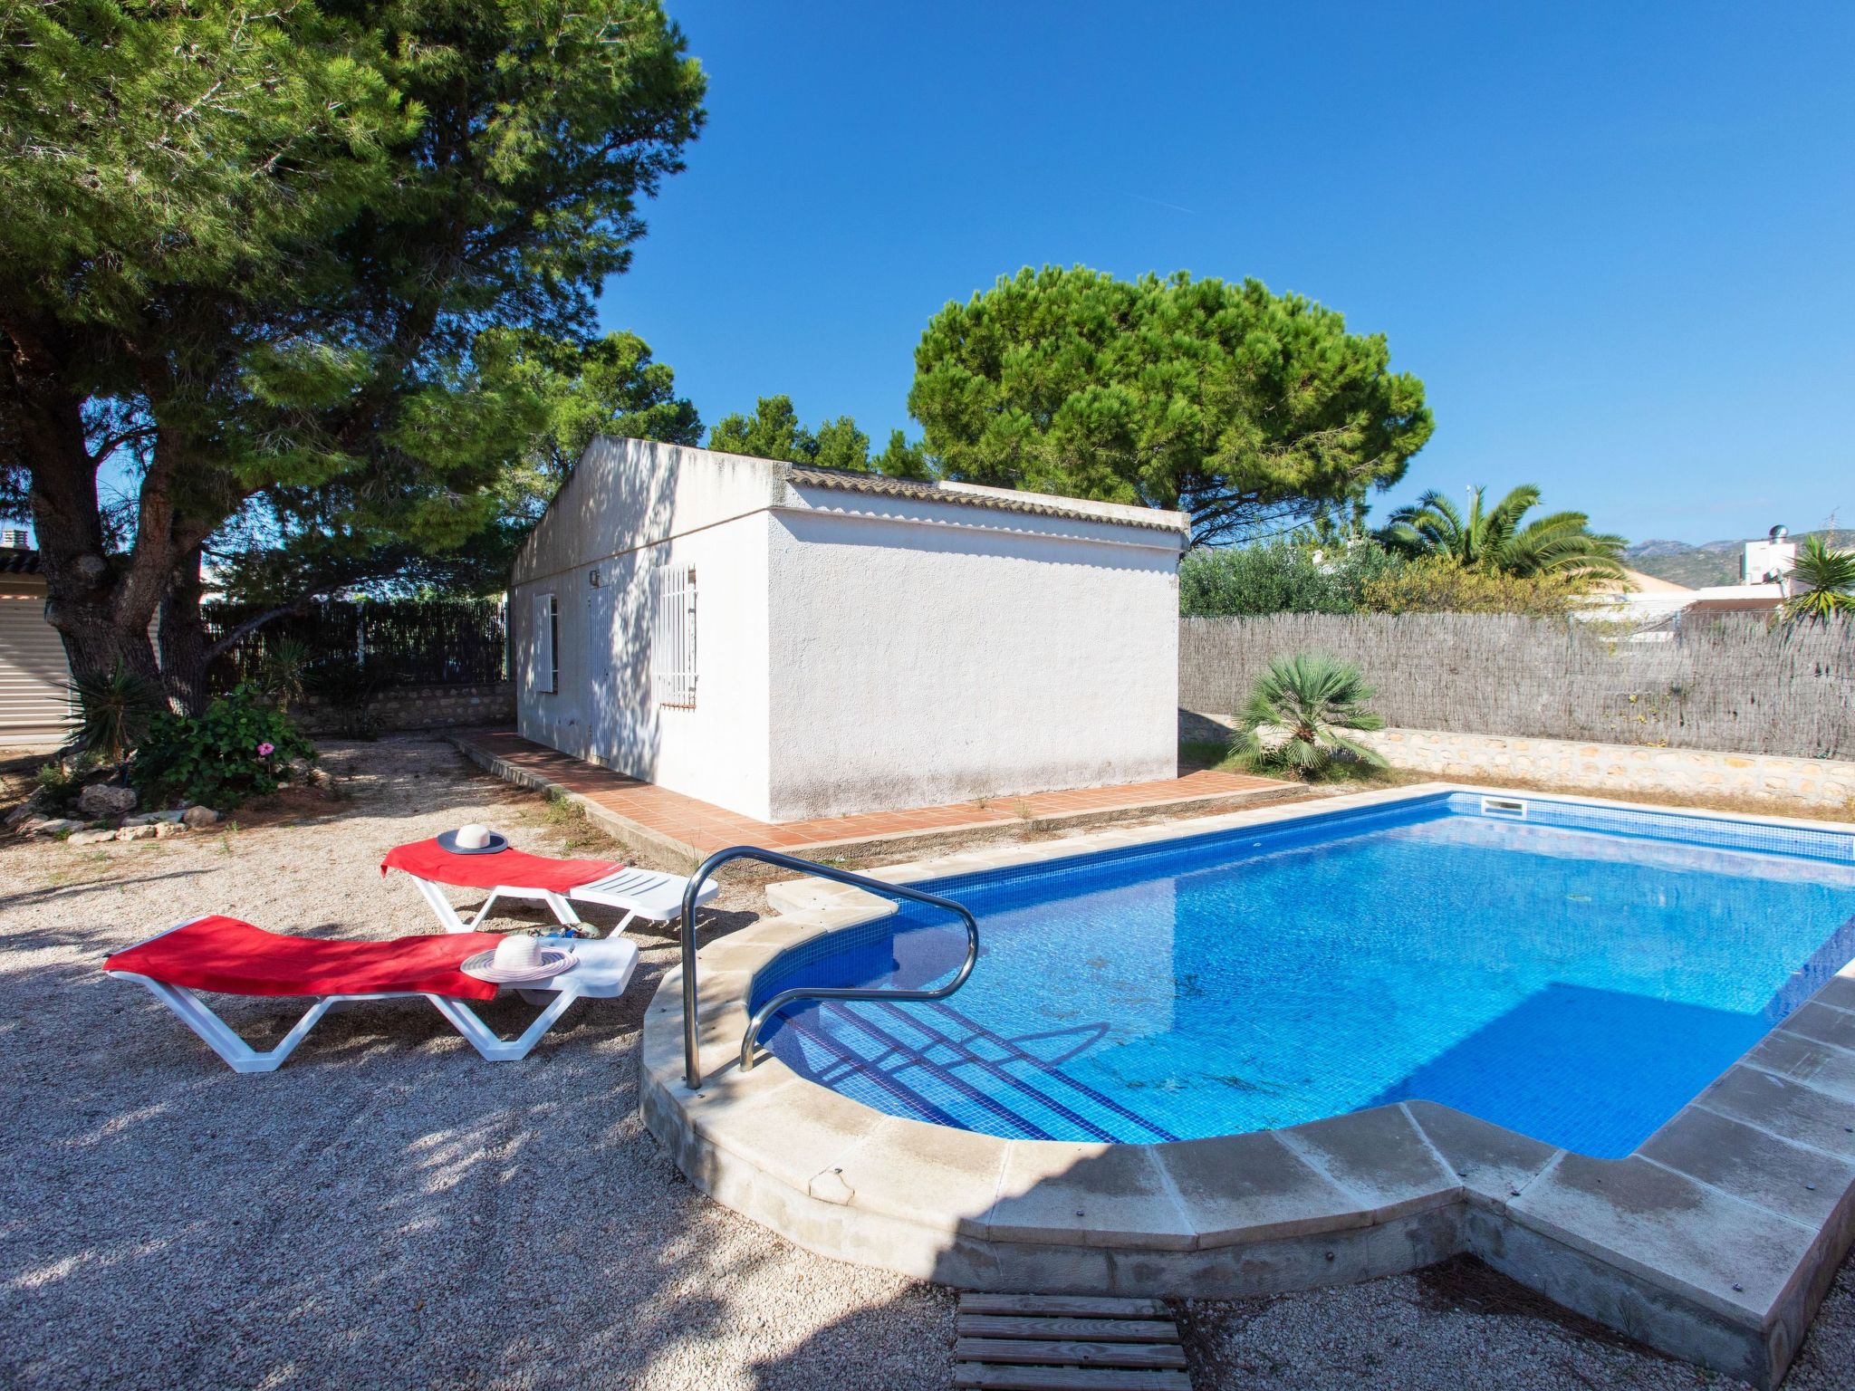
POLYGON ((768 822, 1176 775, 1187 519, 597 440, 516 556, 523 736, 768 822))

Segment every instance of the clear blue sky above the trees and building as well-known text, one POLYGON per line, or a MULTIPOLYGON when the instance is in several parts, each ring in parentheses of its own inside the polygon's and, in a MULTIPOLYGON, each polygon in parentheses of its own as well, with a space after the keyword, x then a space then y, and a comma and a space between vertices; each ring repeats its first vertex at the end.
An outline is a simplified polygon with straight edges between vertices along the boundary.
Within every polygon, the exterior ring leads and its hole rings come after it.
POLYGON ((1855 6, 672 0, 710 74, 601 319, 705 421, 881 443, 1022 265, 1256 276, 1382 332, 1423 488, 1632 540, 1855 523, 1855 6))

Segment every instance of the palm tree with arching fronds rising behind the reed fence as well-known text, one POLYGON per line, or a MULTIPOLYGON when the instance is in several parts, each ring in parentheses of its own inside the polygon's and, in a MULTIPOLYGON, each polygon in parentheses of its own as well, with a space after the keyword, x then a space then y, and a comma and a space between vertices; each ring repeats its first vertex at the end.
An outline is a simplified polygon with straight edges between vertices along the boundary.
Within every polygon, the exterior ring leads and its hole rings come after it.
POLYGON ((1540 503, 1540 490, 1523 482, 1493 506, 1484 488, 1469 490, 1469 514, 1430 490, 1391 514, 1378 540, 1410 556, 1447 556, 1465 569, 1504 575, 1623 577, 1623 538, 1593 532, 1582 512, 1553 512, 1521 527, 1540 503))

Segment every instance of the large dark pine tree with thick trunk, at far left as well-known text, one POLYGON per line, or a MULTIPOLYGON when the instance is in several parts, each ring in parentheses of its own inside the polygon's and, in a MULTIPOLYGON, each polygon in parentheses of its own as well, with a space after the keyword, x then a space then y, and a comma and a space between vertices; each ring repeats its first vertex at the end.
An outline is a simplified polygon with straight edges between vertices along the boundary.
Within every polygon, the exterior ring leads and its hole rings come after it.
POLYGON ((74 670, 154 675, 252 499, 351 553, 492 521, 703 85, 657 0, 0 9, 0 466, 74 670))

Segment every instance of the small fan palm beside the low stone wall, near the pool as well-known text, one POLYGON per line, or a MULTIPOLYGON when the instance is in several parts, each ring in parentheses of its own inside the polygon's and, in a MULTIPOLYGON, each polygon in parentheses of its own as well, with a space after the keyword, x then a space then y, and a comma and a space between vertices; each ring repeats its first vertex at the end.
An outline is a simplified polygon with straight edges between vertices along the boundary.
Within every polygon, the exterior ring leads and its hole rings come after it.
POLYGON ((1326 653, 1276 657, 1237 714, 1232 749, 1252 768, 1300 777, 1317 777, 1336 762, 1384 768, 1375 749, 1347 738, 1350 731, 1386 727, 1382 716, 1365 708, 1375 694, 1352 662, 1326 653))

